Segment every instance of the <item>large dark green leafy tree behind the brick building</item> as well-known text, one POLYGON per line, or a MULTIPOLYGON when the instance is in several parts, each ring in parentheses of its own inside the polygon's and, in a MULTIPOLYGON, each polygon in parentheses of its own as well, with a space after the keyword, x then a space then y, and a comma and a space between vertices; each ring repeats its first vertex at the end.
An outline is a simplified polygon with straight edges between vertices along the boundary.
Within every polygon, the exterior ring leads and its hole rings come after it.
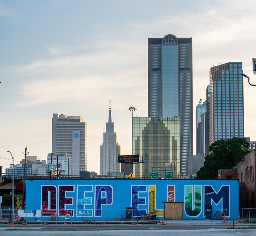
POLYGON ((245 138, 220 139, 209 146, 203 167, 197 172, 197 179, 218 179, 219 169, 233 169, 244 156, 252 151, 245 138))

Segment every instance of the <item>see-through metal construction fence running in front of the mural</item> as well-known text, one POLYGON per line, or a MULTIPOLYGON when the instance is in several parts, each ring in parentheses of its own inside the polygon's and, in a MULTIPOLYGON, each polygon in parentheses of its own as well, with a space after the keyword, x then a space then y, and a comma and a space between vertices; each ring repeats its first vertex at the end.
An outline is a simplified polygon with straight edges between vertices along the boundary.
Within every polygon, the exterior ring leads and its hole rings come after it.
MULTIPOLYGON (((48 222, 51 223, 57 222, 80 222, 84 224, 91 224, 91 223, 105 223, 111 221, 111 223, 120 223, 120 220, 127 220, 136 222, 137 220, 145 220, 145 223, 157 223, 161 220, 177 220, 182 221, 184 219, 194 220, 224 220, 224 213, 225 213, 225 220, 235 219, 236 222, 252 222, 256 223, 256 208, 243 208, 243 209, 214 209, 208 211, 208 215, 206 211, 203 210, 190 210, 188 209, 147 209, 144 210, 148 214, 145 217, 141 214, 140 211, 136 210, 136 216, 134 216, 134 209, 106 209, 95 210, 91 209, 90 212, 88 210, 76 209, 68 210, 68 209, 60 209, 52 212, 52 216, 50 214, 45 215, 45 212, 40 210, 17 210, 14 207, 13 210, 13 221, 24 221, 24 222, 48 222), (96 217, 96 211, 97 217, 96 217), (36 213, 35 213, 36 212, 36 213), (55 212, 55 213, 54 213, 55 212), (189 212, 189 215, 188 215, 189 212), (89 216, 89 213, 93 216, 89 216), (237 217, 231 218, 230 216, 234 216, 237 214, 237 217), (202 217, 203 216, 203 217, 202 217), (56 218, 55 218, 56 217, 56 218), (157 221, 158 220, 158 221, 157 221)), ((11 223, 11 213, 12 209, 10 207, 1 207, 0 209, 0 222, 1 223, 11 223)))

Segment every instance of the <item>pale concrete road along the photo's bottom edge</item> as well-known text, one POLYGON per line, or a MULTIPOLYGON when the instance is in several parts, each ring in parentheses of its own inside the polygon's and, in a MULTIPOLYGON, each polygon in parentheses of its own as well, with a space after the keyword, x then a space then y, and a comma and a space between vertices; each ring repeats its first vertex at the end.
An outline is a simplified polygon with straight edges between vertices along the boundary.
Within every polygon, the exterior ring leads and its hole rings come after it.
POLYGON ((166 236, 167 234, 171 235, 200 235, 200 236, 233 236, 233 235, 244 235, 244 236, 255 236, 256 229, 232 229, 232 230, 218 230, 218 229, 210 229, 210 230, 172 230, 167 232, 166 230, 156 230, 148 229, 148 230, 113 230, 113 231, 0 231, 0 235, 4 236, 57 236, 57 235, 69 235, 69 236, 79 236, 79 235, 124 235, 124 236, 138 236, 138 235, 148 235, 154 234, 157 236, 166 236))

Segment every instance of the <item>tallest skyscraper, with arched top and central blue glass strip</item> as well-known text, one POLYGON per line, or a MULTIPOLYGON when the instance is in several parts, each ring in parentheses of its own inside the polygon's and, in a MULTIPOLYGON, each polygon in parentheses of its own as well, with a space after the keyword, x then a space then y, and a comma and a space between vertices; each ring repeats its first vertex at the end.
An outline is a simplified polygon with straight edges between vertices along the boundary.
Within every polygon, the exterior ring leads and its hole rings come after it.
POLYGON ((193 155, 192 38, 148 39, 148 117, 180 117, 181 175, 193 155))

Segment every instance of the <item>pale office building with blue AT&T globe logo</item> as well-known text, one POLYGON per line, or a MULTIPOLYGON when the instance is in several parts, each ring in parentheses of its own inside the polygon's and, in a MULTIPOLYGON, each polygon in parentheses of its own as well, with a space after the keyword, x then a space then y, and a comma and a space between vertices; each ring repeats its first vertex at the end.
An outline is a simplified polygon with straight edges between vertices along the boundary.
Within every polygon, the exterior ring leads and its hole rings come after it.
POLYGON ((72 158, 72 175, 87 170, 87 124, 81 116, 53 114, 52 152, 72 158))

